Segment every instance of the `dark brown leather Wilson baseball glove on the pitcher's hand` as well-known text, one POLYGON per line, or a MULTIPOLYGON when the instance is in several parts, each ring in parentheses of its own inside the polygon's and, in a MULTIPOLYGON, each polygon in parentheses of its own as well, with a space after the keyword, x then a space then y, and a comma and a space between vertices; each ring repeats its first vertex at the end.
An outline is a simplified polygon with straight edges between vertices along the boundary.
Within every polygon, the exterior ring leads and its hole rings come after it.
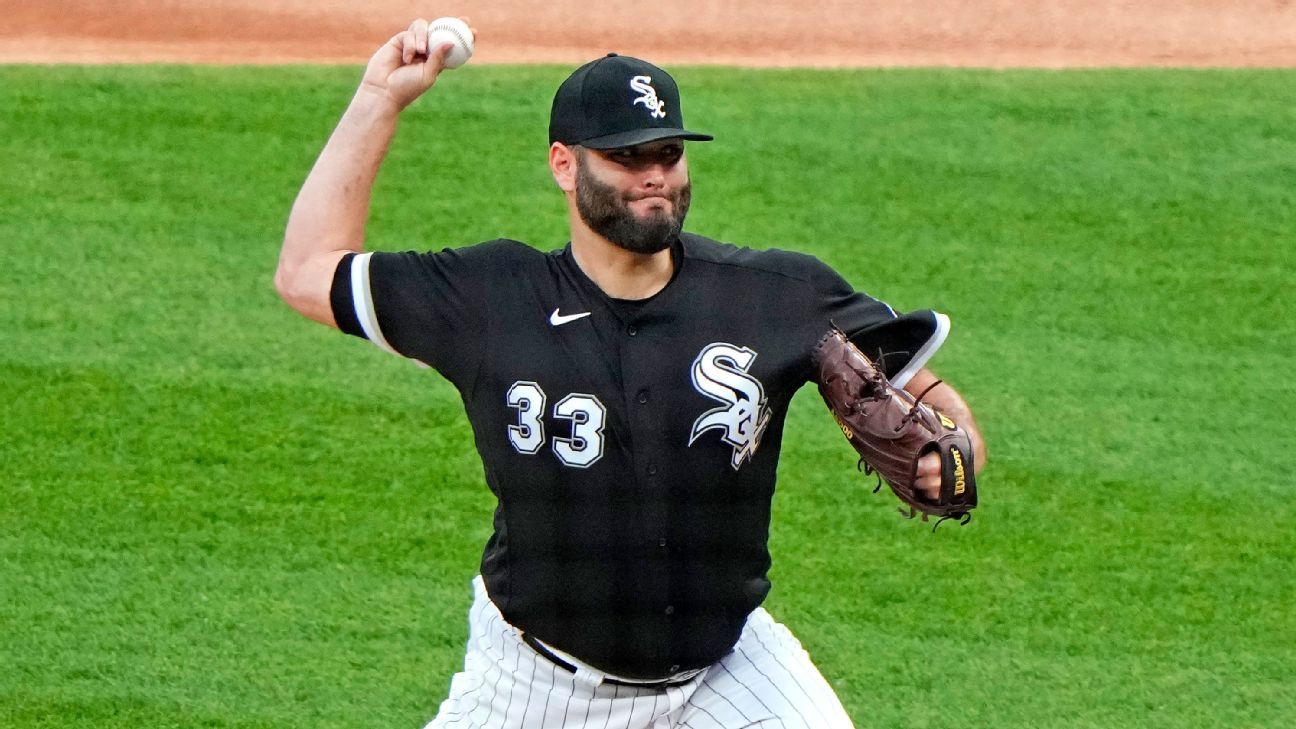
POLYGON ((881 367, 839 329, 829 331, 815 345, 814 366, 819 394, 859 453, 859 466, 866 473, 876 472, 908 506, 901 514, 908 518, 921 514, 924 521, 938 516, 937 525, 946 519, 967 524, 976 506, 972 440, 967 431, 921 402, 932 388, 915 398, 893 387, 881 367), (914 485, 918 459, 928 453, 941 457, 941 494, 936 501, 914 485))

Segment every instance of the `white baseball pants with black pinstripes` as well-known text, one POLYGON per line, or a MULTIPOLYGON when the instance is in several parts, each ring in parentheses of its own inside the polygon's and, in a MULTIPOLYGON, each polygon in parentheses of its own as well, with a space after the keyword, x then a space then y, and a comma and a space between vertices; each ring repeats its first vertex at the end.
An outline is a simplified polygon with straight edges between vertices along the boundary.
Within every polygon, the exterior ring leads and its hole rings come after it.
POLYGON ((796 637, 763 608, 734 651, 687 684, 639 689, 566 671, 531 650, 473 581, 468 655, 425 729, 849 729, 796 637))

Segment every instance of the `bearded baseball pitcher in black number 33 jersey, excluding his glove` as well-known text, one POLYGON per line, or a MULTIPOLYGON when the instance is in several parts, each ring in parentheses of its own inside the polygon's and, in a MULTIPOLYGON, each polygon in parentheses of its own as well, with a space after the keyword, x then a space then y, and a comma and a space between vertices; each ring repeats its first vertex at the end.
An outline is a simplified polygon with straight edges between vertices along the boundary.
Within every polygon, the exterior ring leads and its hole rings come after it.
MULTIPOLYGON (((851 726, 761 608, 788 403, 832 326, 925 388, 947 320, 898 315, 809 256, 683 232, 684 144, 712 137, 684 126, 666 71, 617 54, 553 97, 565 246, 364 252, 397 119, 450 48, 426 38, 415 21, 369 61, 275 281, 306 317, 454 383, 499 499, 464 668, 428 726, 851 726)), ((976 433, 949 385, 927 401, 976 433)), ((920 485, 937 484, 924 458, 920 485)))

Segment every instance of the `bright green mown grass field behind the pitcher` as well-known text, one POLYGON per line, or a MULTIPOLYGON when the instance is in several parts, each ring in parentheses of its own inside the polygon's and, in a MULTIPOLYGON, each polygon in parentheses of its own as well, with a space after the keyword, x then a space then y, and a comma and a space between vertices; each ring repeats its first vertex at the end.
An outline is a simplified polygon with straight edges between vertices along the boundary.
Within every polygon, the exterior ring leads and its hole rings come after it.
MULTIPOLYGON (((0 67, 0 726, 417 728, 492 507, 456 393, 271 285, 358 69, 0 67)), ((565 243, 556 67, 403 122, 371 246, 565 243)), ((857 724, 1296 717, 1292 71, 683 69, 689 228, 955 328, 966 528, 793 405, 784 620, 857 724)))

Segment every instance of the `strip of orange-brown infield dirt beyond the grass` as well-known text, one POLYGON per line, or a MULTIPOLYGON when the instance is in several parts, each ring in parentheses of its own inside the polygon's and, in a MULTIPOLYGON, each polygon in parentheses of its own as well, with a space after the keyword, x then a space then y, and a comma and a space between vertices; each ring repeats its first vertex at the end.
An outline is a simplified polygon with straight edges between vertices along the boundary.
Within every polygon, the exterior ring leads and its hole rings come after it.
POLYGON ((1296 66, 1293 0, 0 0, 0 62, 350 64, 420 14, 477 64, 1296 66))

